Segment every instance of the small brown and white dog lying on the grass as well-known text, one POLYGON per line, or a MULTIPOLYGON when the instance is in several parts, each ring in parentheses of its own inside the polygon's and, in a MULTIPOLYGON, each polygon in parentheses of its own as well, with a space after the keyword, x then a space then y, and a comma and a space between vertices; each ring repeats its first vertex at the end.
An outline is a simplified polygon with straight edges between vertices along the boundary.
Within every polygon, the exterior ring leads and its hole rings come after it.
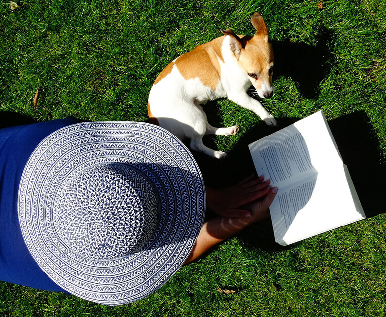
POLYGON ((232 30, 224 36, 202 44, 171 62, 159 74, 148 100, 150 122, 159 124, 181 140, 190 139, 192 150, 223 158, 202 143, 205 134, 234 135, 239 127, 215 128, 206 118, 201 105, 227 97, 255 112, 267 125, 276 125, 273 116, 246 91, 255 87, 261 98, 274 92, 272 71, 274 56, 268 41, 263 17, 255 13, 251 23, 256 34, 238 36, 232 30))

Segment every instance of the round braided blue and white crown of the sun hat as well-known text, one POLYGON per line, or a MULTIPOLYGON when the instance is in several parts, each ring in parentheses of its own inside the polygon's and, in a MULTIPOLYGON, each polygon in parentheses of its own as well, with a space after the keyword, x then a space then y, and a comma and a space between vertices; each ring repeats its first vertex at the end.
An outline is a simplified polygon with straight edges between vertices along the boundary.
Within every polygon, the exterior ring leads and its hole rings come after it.
POLYGON ((107 260, 140 250, 154 236, 159 197, 152 181, 124 163, 90 167, 57 195, 58 237, 79 256, 107 260))

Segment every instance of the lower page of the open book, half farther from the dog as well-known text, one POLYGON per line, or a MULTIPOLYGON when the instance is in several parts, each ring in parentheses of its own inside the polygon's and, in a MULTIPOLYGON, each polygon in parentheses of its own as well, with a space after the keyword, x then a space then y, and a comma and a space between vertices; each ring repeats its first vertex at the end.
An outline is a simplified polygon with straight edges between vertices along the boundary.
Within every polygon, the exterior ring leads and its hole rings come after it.
POLYGON ((288 245, 366 218, 342 165, 282 188, 270 207, 275 240, 288 245), (359 203, 359 205, 358 205, 359 203))

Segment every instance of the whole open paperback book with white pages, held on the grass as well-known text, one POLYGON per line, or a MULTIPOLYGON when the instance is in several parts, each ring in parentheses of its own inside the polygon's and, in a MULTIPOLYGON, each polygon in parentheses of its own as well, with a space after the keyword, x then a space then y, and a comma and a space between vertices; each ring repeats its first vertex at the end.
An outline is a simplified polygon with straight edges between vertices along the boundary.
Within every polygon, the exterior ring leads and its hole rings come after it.
POLYGON ((258 175, 278 193, 275 241, 288 245, 366 218, 323 111, 249 144, 258 175))

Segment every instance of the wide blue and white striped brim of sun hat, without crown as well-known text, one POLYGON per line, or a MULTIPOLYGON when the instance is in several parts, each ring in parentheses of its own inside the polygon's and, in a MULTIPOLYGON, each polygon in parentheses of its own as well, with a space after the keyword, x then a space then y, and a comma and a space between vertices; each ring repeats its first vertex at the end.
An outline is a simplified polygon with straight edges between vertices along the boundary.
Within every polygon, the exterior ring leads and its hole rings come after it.
POLYGON ((175 136, 146 123, 90 122, 62 128, 37 146, 21 178, 18 212, 31 255, 54 282, 78 297, 120 305, 151 294, 182 266, 202 226, 205 203, 201 172, 175 136), (160 221, 138 252, 90 260, 60 240, 52 210, 64 180, 107 162, 130 164, 154 182, 160 221))

